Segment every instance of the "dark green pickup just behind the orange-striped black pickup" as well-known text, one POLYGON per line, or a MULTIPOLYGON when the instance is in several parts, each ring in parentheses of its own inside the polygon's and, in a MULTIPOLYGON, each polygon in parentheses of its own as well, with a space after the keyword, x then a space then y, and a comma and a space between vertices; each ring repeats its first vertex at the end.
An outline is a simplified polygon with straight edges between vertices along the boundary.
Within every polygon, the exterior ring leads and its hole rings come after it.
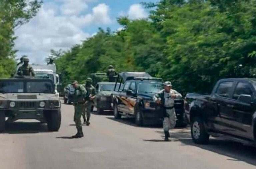
MULTIPOLYGON (((96 84, 95 107, 97 114, 101 114, 104 110, 113 110, 111 103, 111 94, 115 88, 115 82, 99 82, 96 84)), ((117 83, 119 85, 119 83, 117 83)))

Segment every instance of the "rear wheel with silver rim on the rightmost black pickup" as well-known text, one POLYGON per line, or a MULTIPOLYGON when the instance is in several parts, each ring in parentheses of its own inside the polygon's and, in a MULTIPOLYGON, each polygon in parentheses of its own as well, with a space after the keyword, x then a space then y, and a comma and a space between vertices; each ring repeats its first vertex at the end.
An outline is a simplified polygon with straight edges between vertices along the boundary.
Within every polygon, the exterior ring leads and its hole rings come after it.
POLYGON ((197 144, 207 144, 209 141, 209 134, 206 132, 204 123, 199 117, 195 117, 192 121, 191 136, 197 144))

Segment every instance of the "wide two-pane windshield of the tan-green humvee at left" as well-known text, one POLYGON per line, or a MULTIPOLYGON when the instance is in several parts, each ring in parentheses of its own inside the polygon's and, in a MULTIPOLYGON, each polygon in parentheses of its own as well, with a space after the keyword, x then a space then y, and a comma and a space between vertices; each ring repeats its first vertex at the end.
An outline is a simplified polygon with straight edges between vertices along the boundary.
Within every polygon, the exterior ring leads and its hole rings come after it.
POLYGON ((0 93, 54 93, 51 80, 0 80, 0 93))

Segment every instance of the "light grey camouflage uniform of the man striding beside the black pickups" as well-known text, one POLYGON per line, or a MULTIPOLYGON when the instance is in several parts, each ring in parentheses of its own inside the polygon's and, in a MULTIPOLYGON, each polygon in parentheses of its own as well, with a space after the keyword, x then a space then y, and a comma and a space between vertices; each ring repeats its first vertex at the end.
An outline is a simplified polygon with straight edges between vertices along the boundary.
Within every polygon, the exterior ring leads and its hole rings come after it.
POLYGON ((174 128, 176 125, 176 114, 174 109, 174 98, 171 98, 172 95, 176 95, 175 99, 182 98, 182 95, 178 93, 176 90, 171 89, 169 93, 165 91, 165 89, 161 90, 155 96, 153 96, 153 100, 157 99, 161 100, 161 105, 164 107, 164 120, 163 120, 163 129, 165 134, 169 137, 169 130, 174 128))

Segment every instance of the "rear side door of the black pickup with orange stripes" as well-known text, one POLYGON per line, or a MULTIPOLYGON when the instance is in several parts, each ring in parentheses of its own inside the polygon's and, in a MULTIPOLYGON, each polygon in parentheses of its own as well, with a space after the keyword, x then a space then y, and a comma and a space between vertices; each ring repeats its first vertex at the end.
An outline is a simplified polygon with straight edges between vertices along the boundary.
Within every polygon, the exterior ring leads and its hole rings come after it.
POLYGON ((119 95, 119 104, 118 104, 118 110, 120 112, 124 112, 124 113, 129 113, 127 110, 127 104, 128 104, 128 99, 127 99, 127 96, 126 96, 126 92, 127 90, 129 89, 130 87, 130 84, 131 82, 126 82, 124 84, 124 88, 123 90, 120 92, 120 95, 119 95))

